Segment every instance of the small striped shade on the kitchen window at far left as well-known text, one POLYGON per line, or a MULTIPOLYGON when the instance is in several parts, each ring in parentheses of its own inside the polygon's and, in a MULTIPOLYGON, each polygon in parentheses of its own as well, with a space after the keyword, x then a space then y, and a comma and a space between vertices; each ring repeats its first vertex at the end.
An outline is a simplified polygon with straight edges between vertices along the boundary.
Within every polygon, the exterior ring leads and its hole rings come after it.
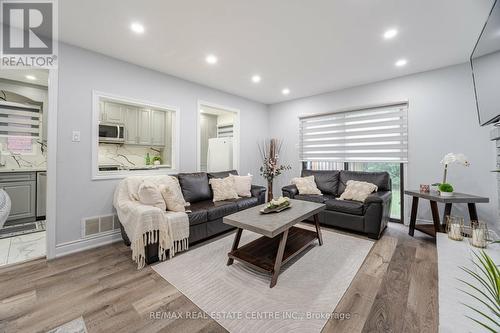
POLYGON ((41 117, 37 106, 0 102, 0 136, 38 137, 41 117))

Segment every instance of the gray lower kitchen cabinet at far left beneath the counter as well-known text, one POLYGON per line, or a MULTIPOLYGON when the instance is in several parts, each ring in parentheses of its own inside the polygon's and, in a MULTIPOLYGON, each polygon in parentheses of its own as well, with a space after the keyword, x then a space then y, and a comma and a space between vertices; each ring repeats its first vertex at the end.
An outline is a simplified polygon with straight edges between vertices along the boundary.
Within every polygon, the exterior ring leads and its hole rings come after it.
POLYGON ((36 172, 0 173, 0 188, 12 202, 7 221, 21 223, 36 219, 36 172))

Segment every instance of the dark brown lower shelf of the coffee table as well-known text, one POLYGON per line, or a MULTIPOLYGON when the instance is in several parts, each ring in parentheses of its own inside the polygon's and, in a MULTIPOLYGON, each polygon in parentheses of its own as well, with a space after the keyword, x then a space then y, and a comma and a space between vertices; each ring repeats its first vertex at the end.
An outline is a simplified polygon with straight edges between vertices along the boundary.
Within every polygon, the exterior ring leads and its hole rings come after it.
MULTIPOLYGON (((318 234, 315 231, 291 227, 288 231, 281 264, 287 263, 317 239, 318 234)), ((241 261, 258 271, 273 274, 280 241, 281 235, 274 238, 262 236, 227 255, 230 259, 241 261)))

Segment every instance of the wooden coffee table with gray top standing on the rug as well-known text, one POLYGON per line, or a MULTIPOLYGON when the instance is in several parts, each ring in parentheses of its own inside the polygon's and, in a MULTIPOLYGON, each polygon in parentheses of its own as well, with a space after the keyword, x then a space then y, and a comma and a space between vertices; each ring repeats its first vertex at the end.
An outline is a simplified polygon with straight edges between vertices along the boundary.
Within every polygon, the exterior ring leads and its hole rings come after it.
POLYGON ((290 200, 290 208, 271 214, 261 214, 264 205, 252 207, 224 217, 223 222, 237 227, 231 252, 227 255, 227 265, 234 260, 261 272, 271 274, 270 287, 278 281, 281 266, 304 251, 318 240, 323 244, 318 213, 325 209, 324 204, 302 200, 290 200), (316 231, 295 227, 294 225, 313 216, 316 231), (243 230, 262 235, 262 237, 238 247, 243 230))

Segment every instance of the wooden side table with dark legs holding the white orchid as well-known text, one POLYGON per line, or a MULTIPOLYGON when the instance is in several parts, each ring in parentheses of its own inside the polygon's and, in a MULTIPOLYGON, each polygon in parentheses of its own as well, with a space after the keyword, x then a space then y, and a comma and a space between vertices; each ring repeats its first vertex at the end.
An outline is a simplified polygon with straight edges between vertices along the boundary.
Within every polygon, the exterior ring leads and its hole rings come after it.
POLYGON ((469 208, 469 216, 471 220, 478 219, 476 203, 488 203, 490 199, 486 197, 478 197, 471 194, 464 193, 454 193, 452 197, 442 197, 438 192, 431 191, 430 193, 423 193, 420 191, 405 191, 406 195, 412 196, 411 204, 411 217, 410 217, 410 230, 408 234, 413 237, 415 229, 436 237, 437 232, 445 231, 446 216, 451 214, 451 208, 453 204, 456 203, 466 203, 469 208), (417 221, 417 210, 419 199, 429 200, 431 204, 432 221, 433 224, 416 224, 417 221), (444 214, 443 214, 443 224, 439 220, 439 210, 437 203, 444 203, 444 214))

